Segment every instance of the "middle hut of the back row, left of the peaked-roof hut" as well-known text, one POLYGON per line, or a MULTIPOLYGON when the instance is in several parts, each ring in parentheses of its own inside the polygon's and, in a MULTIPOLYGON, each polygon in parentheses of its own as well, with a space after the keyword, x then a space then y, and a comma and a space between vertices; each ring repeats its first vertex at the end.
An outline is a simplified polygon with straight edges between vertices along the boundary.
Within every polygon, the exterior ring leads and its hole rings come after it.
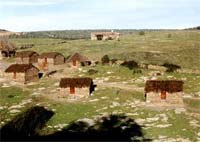
POLYGON ((45 52, 38 57, 38 65, 43 69, 49 66, 60 65, 65 63, 65 57, 58 52, 45 52))

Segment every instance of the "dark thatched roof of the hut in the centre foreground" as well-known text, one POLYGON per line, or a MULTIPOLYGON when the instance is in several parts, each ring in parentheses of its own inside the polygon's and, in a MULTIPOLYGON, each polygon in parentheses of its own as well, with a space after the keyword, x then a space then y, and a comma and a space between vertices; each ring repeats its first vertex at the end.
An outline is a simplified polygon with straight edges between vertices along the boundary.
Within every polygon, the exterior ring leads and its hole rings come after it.
POLYGON ((60 87, 89 87, 92 83, 91 78, 61 78, 60 87))

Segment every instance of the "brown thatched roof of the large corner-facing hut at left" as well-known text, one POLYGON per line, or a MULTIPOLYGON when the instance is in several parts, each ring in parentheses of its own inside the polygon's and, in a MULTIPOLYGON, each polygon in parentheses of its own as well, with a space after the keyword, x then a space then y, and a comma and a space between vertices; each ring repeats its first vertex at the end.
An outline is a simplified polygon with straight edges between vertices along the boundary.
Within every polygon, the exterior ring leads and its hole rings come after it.
MULTIPOLYGON (((9 73, 9 72, 23 73, 23 72, 26 72, 30 68, 36 68, 36 67, 33 66, 32 64, 12 64, 5 70, 5 72, 7 72, 7 73, 9 73)), ((36 69, 38 69, 38 68, 36 68, 36 69)), ((38 71, 39 71, 39 69, 38 69, 38 71)))

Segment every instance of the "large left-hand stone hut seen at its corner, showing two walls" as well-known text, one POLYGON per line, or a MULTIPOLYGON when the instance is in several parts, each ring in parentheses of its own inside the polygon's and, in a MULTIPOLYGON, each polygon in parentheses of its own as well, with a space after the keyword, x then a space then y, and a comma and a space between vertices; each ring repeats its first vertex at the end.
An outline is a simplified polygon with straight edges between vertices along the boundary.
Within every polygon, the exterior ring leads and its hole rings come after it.
POLYGON ((5 76, 8 79, 24 84, 37 81, 38 73, 39 69, 32 64, 12 64, 5 70, 5 76))

